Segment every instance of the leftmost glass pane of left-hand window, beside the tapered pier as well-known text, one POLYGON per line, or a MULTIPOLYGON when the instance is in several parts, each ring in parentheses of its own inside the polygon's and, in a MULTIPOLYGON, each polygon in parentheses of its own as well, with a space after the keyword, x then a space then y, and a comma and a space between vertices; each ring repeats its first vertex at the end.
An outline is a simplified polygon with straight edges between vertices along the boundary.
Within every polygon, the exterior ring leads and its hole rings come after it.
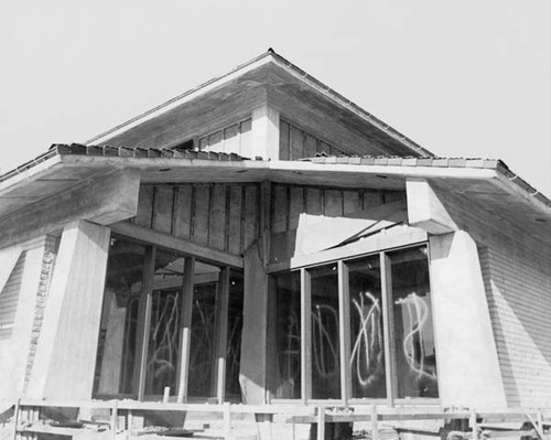
POLYGON ((136 395, 138 308, 145 246, 111 239, 99 329, 94 395, 136 395))

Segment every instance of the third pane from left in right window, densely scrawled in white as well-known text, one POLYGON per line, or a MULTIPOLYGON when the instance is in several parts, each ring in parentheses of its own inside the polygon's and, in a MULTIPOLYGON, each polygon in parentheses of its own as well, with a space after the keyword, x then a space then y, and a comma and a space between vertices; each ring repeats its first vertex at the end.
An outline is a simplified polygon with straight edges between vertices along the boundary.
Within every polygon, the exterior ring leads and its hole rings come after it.
POLYGON ((347 266, 352 396, 385 398, 387 387, 379 255, 347 266))

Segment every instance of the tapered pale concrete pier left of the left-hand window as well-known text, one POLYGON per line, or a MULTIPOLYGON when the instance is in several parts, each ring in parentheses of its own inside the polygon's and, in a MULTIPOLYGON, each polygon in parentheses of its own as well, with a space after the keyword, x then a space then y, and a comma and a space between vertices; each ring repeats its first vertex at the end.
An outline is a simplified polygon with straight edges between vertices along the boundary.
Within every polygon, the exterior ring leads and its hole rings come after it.
POLYGON ((109 234, 108 228, 83 221, 63 230, 29 384, 30 397, 91 396, 101 316, 98 298, 104 292, 109 234))

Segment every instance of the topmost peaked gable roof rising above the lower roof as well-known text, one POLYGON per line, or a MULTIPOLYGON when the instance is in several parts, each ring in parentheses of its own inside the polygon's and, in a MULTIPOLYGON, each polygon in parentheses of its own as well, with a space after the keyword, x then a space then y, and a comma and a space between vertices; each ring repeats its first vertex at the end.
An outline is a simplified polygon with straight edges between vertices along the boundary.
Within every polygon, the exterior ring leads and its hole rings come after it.
MULTIPOLYGON (((382 147, 378 151, 379 153, 433 155, 432 152, 388 124, 277 54, 272 49, 239 65, 231 72, 203 83, 89 139, 85 143, 136 147, 138 142, 143 142, 139 146, 144 147, 147 143, 147 147, 155 147, 151 140, 147 140, 145 133, 159 131, 163 118, 170 120, 171 125, 176 124, 176 121, 185 124, 186 118, 190 118, 193 111, 197 111, 197 104, 202 106, 201 111, 209 111, 209 109, 216 108, 222 100, 237 99, 239 94, 244 94, 244 90, 252 94, 262 86, 277 89, 276 94, 289 94, 299 100, 307 101, 309 105, 327 109, 341 121, 363 131, 366 138, 372 138, 374 148, 376 144, 382 147), (224 94, 215 95, 220 89, 224 89, 224 94), (197 98, 201 100, 196 100, 197 98), (209 99, 212 100, 209 101, 209 99)), ((255 103, 253 98, 249 98, 249 100, 255 103)), ((365 153, 365 151, 358 151, 358 153, 365 153)))

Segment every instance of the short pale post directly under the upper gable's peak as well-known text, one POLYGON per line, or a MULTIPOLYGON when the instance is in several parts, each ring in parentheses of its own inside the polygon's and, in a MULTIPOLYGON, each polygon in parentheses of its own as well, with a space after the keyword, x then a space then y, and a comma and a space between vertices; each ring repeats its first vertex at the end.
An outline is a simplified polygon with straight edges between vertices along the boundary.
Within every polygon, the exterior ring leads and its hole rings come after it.
POLYGON ((279 111, 264 105, 252 110, 252 151, 263 160, 279 160, 279 111))

